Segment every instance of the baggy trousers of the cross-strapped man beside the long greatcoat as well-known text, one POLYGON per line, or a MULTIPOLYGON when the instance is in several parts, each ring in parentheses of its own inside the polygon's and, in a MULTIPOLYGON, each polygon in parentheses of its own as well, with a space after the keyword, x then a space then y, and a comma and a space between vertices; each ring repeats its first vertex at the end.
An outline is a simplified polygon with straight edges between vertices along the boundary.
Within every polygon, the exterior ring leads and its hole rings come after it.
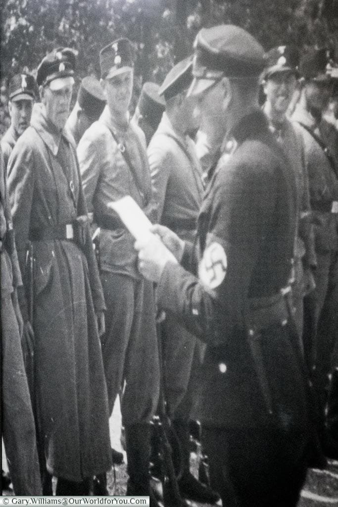
POLYGON ((101 338, 110 413, 123 387, 123 424, 149 422, 160 389, 154 286, 118 273, 101 273, 107 311, 101 338))

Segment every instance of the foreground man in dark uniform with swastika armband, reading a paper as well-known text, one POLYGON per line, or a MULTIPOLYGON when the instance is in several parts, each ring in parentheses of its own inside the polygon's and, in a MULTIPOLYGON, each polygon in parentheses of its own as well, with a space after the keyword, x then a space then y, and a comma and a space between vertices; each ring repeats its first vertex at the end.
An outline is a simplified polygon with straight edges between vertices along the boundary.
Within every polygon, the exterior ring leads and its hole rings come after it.
POLYGON ((159 305, 207 343, 199 415, 211 486, 227 507, 295 506, 306 475, 305 382, 283 296, 295 181, 258 108, 263 54, 236 26, 199 32, 188 93, 200 96, 206 135, 219 146, 233 138, 234 149, 209 174, 196 248, 162 226, 162 241, 135 244, 159 305))

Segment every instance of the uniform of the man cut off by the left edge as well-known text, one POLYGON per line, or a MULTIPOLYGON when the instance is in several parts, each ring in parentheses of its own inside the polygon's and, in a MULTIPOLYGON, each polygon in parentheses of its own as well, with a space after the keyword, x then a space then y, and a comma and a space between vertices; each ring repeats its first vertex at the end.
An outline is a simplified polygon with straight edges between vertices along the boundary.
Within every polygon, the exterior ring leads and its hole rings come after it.
POLYGON ((16 495, 41 495, 35 424, 23 364, 13 288, 22 285, 14 243, 6 171, 0 150, 2 429, 16 495), (9 250, 9 251, 8 251, 9 250))

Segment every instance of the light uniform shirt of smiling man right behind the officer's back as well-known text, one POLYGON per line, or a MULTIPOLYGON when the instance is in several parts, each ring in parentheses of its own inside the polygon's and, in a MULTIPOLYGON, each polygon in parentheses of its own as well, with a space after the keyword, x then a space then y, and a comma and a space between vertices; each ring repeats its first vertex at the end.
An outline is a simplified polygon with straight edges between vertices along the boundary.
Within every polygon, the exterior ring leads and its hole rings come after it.
POLYGON ((270 121, 270 129, 277 140, 282 143, 287 157, 294 169, 297 203, 298 223, 295 241, 295 257, 303 258, 308 266, 316 265, 314 234, 311 225, 311 206, 309 195, 309 176, 305 165, 303 136, 297 125, 286 118, 278 126, 270 121))

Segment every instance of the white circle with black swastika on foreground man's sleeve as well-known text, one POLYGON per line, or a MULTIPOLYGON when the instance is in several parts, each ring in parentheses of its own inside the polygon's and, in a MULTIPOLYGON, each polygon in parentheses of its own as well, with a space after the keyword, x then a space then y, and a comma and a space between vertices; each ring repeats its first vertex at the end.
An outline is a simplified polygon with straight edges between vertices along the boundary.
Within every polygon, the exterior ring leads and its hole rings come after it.
POLYGON ((199 266, 199 279, 206 288, 216 288, 227 274, 227 255, 224 248, 215 241, 203 253, 199 266))

